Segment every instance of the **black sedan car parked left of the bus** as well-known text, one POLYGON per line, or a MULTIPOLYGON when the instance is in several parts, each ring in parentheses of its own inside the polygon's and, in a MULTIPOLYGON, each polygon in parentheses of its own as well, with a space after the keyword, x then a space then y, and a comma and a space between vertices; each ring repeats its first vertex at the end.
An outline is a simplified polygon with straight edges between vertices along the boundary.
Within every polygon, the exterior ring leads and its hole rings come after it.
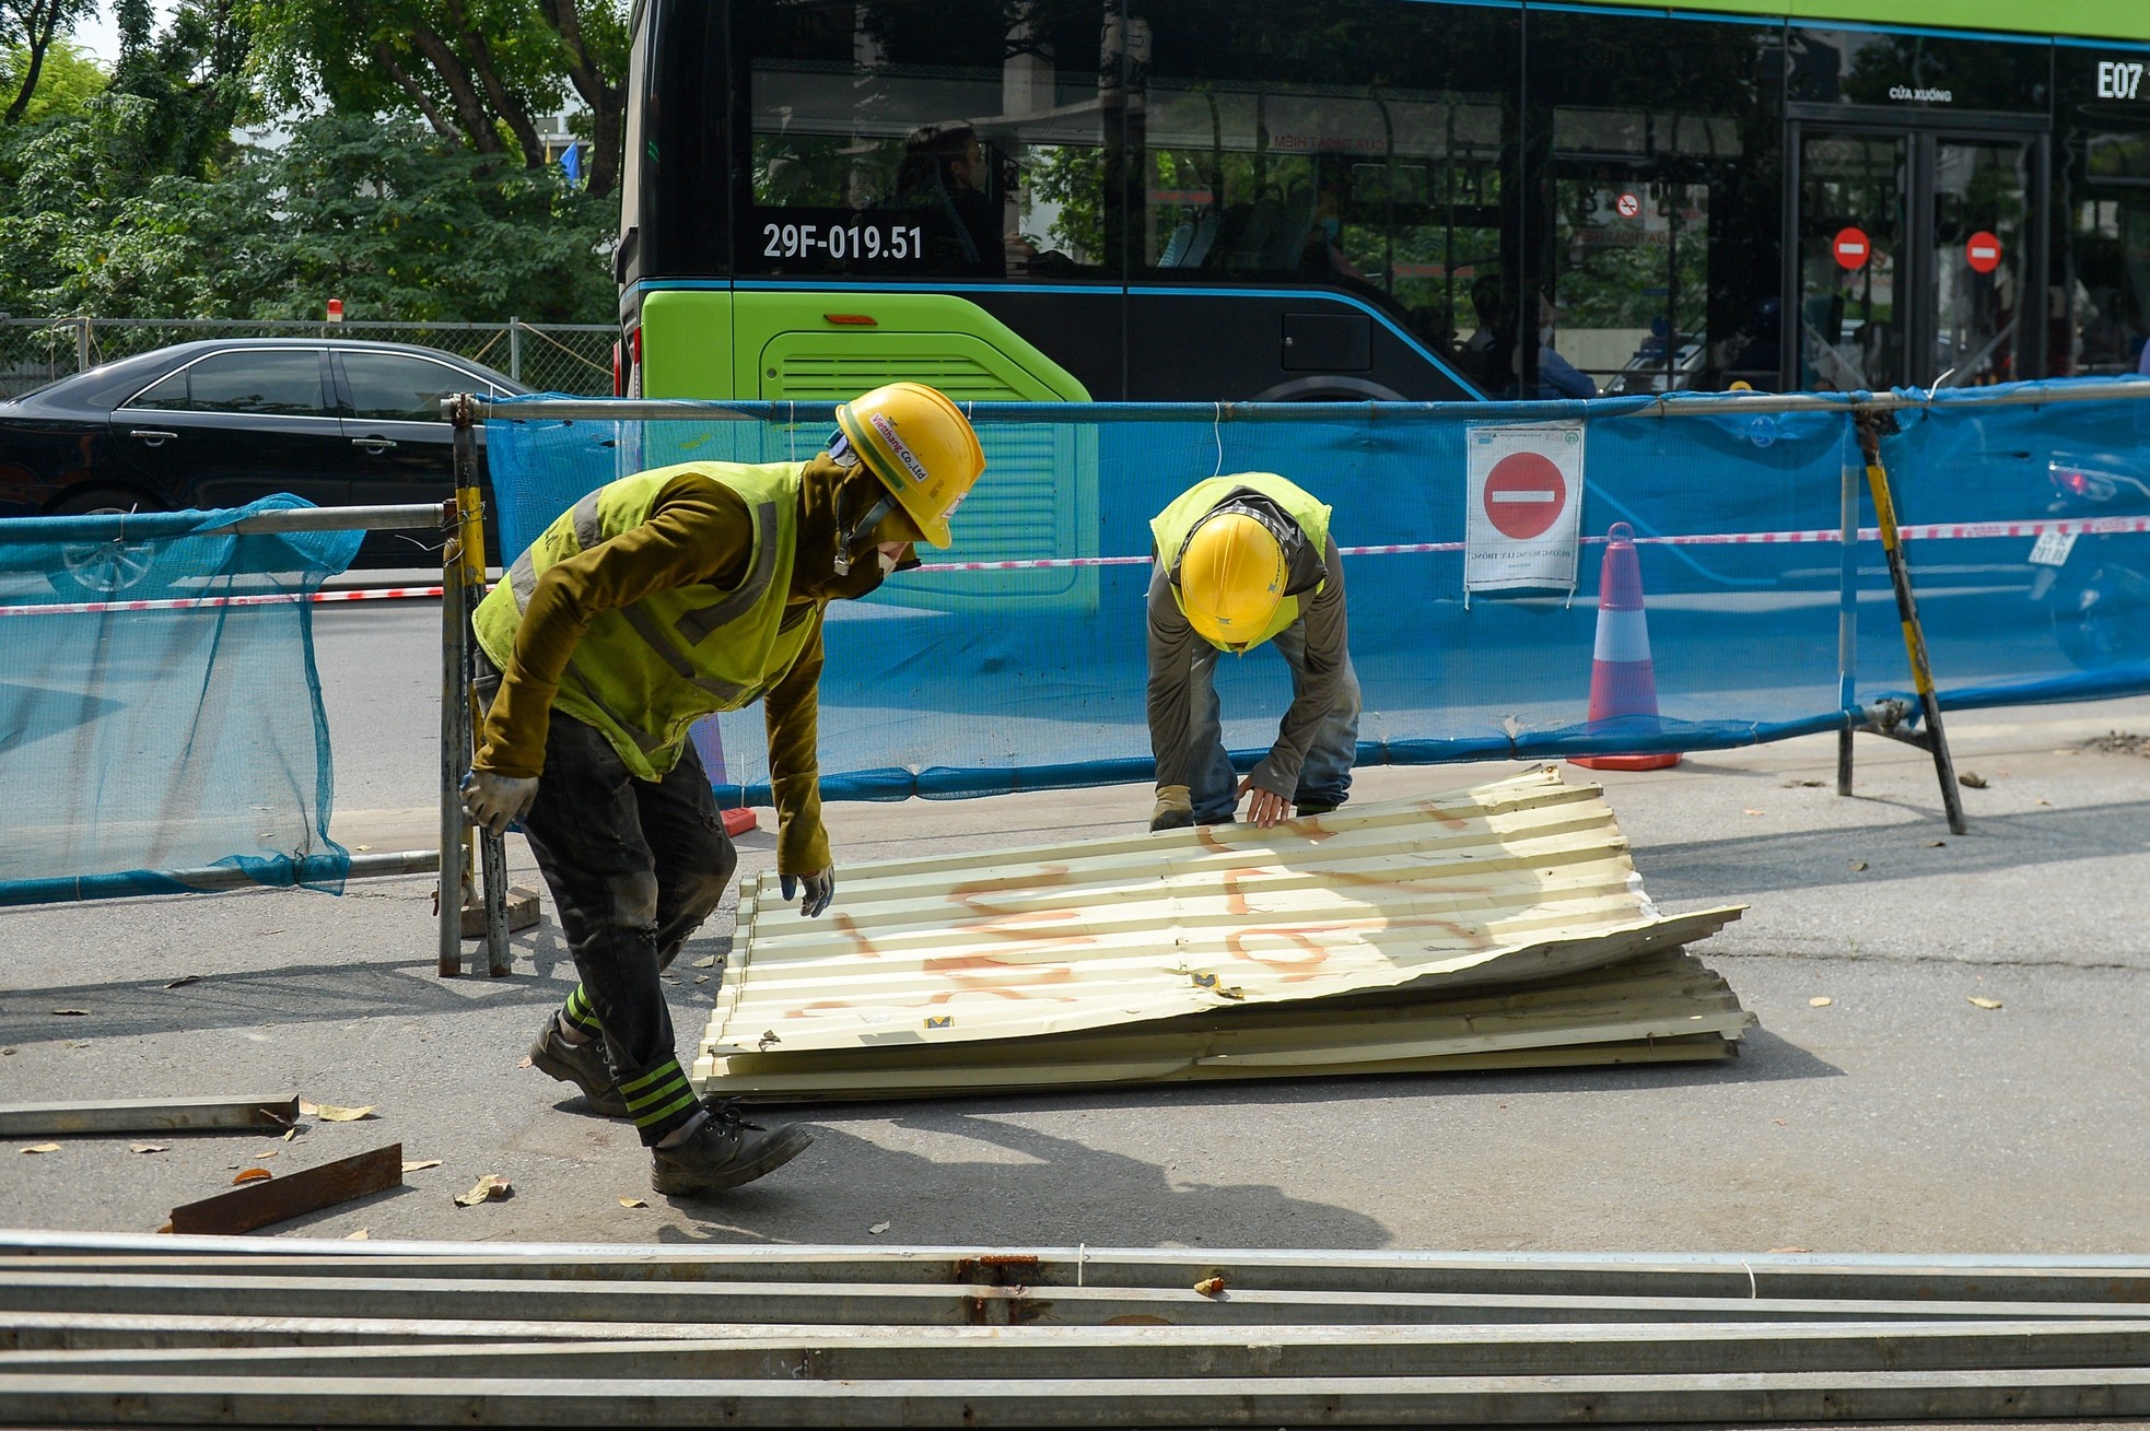
MULTIPOLYGON (((174 344, 0 402, 0 518, 239 507, 271 492, 318 507, 436 503, 456 486, 441 398, 525 391, 411 344, 174 344)), ((486 556, 501 559, 490 544, 486 556)), ((372 533, 359 552, 374 567, 434 561, 424 533, 372 533)))

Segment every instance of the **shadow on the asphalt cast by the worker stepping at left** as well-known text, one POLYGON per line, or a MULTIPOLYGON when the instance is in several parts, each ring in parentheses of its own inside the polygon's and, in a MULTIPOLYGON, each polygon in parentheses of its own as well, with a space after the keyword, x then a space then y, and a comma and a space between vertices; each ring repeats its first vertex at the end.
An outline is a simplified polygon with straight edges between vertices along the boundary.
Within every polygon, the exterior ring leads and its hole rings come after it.
MULTIPOLYGON (((774 1111, 768 1119, 791 1122, 774 1111)), ((701 1227, 660 1227, 658 1240, 1339 1248, 1393 1240, 1350 1208, 1258 1182, 1180 1182, 1157 1162, 998 1117, 933 1109, 882 1126, 916 1150, 819 1124, 813 1147, 765 1182, 722 1203, 675 1203, 701 1227)))

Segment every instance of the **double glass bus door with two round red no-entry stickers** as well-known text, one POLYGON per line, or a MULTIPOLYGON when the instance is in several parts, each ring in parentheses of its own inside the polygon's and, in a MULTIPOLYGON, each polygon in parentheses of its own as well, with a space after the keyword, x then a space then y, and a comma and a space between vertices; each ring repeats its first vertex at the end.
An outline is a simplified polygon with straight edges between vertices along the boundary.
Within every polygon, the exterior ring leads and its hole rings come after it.
POLYGON ((2045 376, 2042 133, 1804 125, 1793 153, 1802 389, 2045 376))

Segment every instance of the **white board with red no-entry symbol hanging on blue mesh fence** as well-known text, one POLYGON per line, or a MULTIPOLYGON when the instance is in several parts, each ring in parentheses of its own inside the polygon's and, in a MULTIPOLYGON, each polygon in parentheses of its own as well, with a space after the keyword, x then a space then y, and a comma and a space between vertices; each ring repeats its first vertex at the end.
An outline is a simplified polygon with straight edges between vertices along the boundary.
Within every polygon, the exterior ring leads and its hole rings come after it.
POLYGON ((1468 428, 1464 591, 1576 589, 1582 423, 1468 428))

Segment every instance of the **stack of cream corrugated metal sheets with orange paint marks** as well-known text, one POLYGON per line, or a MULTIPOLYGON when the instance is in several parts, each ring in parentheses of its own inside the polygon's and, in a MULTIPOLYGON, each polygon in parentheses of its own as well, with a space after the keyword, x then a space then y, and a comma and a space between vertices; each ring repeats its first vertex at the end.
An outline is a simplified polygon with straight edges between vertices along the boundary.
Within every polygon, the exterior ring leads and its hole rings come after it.
POLYGON ((776 1098, 1722 1057, 1752 1023, 1679 945, 1595 786, 1537 769, 1262 832, 742 883, 694 1079, 776 1098))

